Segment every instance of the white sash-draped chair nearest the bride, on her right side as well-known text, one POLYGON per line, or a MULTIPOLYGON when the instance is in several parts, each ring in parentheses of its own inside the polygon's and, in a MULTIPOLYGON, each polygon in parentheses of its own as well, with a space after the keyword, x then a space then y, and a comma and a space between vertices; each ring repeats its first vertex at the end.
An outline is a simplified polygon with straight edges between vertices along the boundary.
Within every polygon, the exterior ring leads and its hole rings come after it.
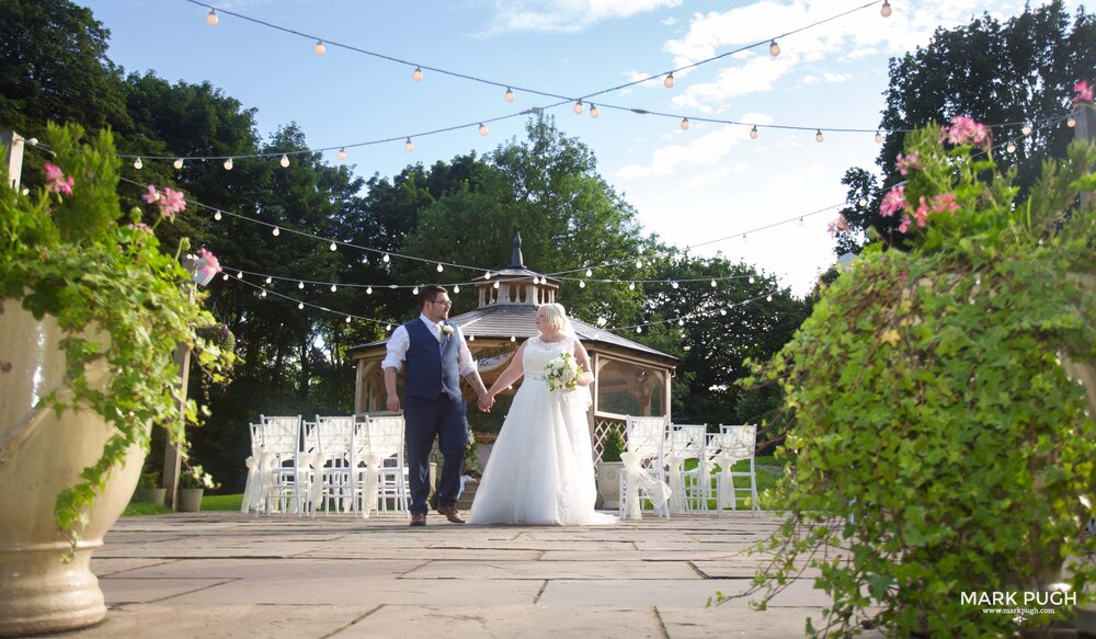
POLYGON ((664 456, 666 418, 635 418, 625 421, 627 450, 620 455, 620 518, 642 517, 642 502, 651 502, 654 511, 670 518, 671 489, 666 484, 664 456))

